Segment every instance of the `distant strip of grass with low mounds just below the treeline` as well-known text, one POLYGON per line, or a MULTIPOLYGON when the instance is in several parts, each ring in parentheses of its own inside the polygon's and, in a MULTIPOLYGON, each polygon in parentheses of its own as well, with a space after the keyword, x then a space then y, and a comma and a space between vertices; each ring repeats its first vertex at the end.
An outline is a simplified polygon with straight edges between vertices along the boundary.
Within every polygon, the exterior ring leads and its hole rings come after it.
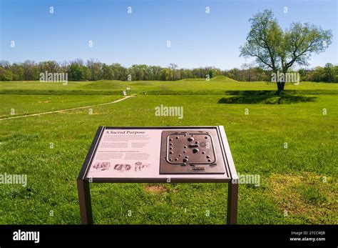
MULTIPOLYGON (((184 79, 179 81, 85 81, 68 82, 68 85, 39 81, 9 81, 0 83, 0 94, 122 94, 129 87, 130 94, 224 94, 225 91, 268 90, 276 91, 274 83, 263 81, 244 82, 234 81, 226 77, 217 79, 184 79), (98 92, 99 93, 98 93, 98 92), (176 92, 176 93, 175 93, 176 92), (183 93, 182 93, 183 92, 183 93)), ((287 84, 287 90, 325 90, 338 91, 337 84, 300 82, 299 85, 287 84)))

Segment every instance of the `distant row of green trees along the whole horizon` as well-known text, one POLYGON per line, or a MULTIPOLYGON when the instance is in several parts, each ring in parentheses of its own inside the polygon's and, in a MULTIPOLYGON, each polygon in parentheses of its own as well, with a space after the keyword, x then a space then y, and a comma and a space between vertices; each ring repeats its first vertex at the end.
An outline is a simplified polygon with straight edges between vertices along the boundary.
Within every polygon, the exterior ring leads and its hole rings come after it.
MULTIPOLYGON (((148 66, 134 64, 129 68, 121 64, 105 64, 96 59, 84 62, 77 59, 71 62, 57 63, 56 61, 24 61, 24 63, 10 64, 8 61, 0 61, 0 81, 34 81, 39 80, 40 73, 68 73, 69 81, 96 81, 122 80, 180 80, 180 79, 205 79, 208 75, 228 76, 237 81, 271 81, 272 70, 264 70, 253 64, 244 64, 241 69, 221 70, 215 67, 201 67, 195 69, 179 69, 176 64, 168 67, 148 66)), ((326 64, 314 69, 299 69, 302 81, 327 81, 338 82, 338 66, 326 64)))

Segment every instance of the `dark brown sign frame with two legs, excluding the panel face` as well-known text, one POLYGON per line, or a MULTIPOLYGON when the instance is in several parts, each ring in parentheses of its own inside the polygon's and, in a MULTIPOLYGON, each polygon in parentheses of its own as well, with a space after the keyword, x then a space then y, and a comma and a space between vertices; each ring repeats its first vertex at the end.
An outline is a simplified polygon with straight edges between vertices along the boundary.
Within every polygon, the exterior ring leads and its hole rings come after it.
MULTIPOLYGON (((159 154, 160 155, 160 154, 159 154)), ((160 172, 159 172, 160 173, 160 172)), ((98 127, 91 147, 88 151, 80 173, 78 174, 78 201, 80 205, 81 224, 93 224, 93 214, 91 209, 91 192, 89 184, 91 183, 227 183, 227 224, 237 223, 237 199, 238 199, 238 177, 235 164, 232 159, 230 147, 223 126, 197 126, 197 127, 98 127), (107 129, 215 129, 220 140, 222 156, 225 162, 225 174, 213 174, 211 177, 205 177, 203 174, 187 174, 185 177, 178 177, 176 174, 165 174, 165 177, 119 177, 102 178, 87 177, 88 170, 93 162, 98 144, 107 129), (168 181, 168 178, 170 180, 168 181)))

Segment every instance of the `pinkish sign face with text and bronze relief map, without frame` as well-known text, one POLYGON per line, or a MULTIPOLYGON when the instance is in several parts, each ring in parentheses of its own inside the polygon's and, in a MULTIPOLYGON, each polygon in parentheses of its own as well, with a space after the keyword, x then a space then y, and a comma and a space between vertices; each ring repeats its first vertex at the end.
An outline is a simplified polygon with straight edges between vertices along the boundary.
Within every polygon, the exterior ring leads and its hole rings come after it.
POLYGON ((108 128, 93 151, 86 178, 226 179, 225 152, 216 128, 108 128))

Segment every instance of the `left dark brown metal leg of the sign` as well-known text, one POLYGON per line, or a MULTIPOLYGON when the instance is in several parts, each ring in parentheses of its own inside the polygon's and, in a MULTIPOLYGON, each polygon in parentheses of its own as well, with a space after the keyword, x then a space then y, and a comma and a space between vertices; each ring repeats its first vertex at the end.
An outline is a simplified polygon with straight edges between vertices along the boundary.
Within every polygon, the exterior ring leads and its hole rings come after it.
POLYGON ((91 212, 91 192, 89 182, 78 180, 78 202, 80 204, 81 224, 93 224, 91 212))

